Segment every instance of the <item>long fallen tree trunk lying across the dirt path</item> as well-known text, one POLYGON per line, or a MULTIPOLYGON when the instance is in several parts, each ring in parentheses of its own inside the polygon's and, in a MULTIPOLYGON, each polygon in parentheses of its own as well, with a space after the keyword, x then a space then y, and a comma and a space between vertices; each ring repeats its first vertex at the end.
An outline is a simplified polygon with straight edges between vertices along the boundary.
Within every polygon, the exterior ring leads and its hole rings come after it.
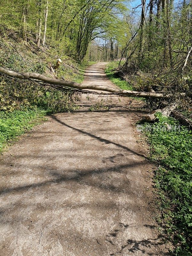
POLYGON ((62 80, 62 79, 55 79, 55 78, 50 78, 38 73, 23 73, 23 72, 15 72, 6 68, 2 68, 0 67, 0 73, 3 73, 7 76, 11 76, 11 77, 16 77, 19 79, 29 79, 29 80, 34 80, 34 81, 38 81, 38 82, 43 82, 46 83, 46 85, 48 84, 49 86, 54 85, 54 88, 57 89, 58 86, 58 90, 61 90, 61 87, 69 87, 69 88, 75 88, 78 90, 98 90, 98 91, 105 91, 105 92, 110 92, 110 93, 115 93, 118 94, 120 96, 131 96, 131 97, 143 97, 143 98, 170 98, 171 95, 166 95, 163 93, 156 93, 156 92, 136 92, 136 91, 131 91, 131 90, 121 90, 118 88, 113 88, 113 87, 109 87, 109 86, 103 86, 103 85, 86 85, 86 84, 78 84, 76 82, 71 82, 71 81, 66 81, 66 80, 62 80))

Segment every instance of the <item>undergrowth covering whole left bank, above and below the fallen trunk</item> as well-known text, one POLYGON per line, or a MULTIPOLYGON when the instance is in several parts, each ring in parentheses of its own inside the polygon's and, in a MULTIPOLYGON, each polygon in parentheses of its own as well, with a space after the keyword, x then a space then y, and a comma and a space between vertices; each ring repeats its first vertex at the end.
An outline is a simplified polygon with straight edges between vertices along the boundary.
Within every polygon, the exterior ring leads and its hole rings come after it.
MULTIPOLYGON (((14 41, 1 38, 0 66, 16 71, 29 71, 51 76, 48 62, 54 63, 55 51, 49 49, 39 54, 36 49, 28 49, 25 44, 17 43, 17 50, 10 45, 14 41), (18 53, 19 52, 19 53, 18 53), (25 57, 25 59, 23 58, 25 57)), ((57 76, 75 82, 83 81, 84 68, 91 62, 76 61, 64 56, 57 76), (80 70, 80 71, 79 71, 80 70)), ((0 76, 0 151, 14 141, 17 136, 33 127, 46 113, 66 112, 78 108, 78 95, 43 87, 36 82, 0 76)))

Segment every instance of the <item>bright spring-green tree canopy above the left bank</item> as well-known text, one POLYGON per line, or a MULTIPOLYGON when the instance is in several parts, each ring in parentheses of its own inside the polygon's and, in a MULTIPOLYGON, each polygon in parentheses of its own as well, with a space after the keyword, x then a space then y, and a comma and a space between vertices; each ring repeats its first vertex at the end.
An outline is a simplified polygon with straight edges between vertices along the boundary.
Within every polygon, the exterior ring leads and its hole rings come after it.
MULTIPOLYGON (((0 5, 0 31, 4 36, 14 36, 26 44, 37 44, 36 32, 43 47, 42 39, 46 27, 45 45, 49 45, 60 56, 70 54, 78 61, 86 55, 88 45, 98 35, 111 35, 116 30, 118 38, 124 38, 120 16, 127 10, 124 1, 83 1, 83 0, 5 0, 0 5), (46 26, 44 11, 48 7, 46 26), (39 25, 41 24, 41 26, 39 25), (13 32, 14 31, 14 32, 13 32)), ((121 40, 122 41, 122 40, 121 40)), ((124 40, 123 40, 124 41, 124 40)), ((125 45, 125 42, 124 42, 125 45)))

